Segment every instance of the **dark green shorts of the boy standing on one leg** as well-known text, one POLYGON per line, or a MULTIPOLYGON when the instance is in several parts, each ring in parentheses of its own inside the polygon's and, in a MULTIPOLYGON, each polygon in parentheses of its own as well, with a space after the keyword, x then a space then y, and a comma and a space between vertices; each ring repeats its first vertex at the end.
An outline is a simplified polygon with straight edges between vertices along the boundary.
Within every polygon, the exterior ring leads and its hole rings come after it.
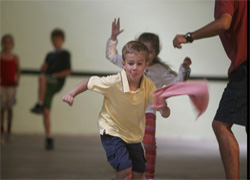
POLYGON ((43 105, 47 108, 51 108, 51 103, 53 96, 59 92, 63 87, 63 84, 60 84, 56 78, 53 78, 50 75, 46 75, 46 92, 44 96, 43 105))

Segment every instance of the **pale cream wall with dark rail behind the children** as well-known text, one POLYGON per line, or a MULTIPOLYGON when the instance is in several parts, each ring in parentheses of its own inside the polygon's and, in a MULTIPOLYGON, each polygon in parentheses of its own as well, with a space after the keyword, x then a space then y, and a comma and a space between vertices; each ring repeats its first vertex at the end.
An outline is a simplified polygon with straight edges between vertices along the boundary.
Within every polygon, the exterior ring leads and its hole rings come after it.
MULTIPOLYGON (((21 68, 38 69, 45 55, 52 50, 50 32, 55 27, 66 32, 65 48, 71 52, 73 71, 118 72, 120 69, 105 58, 106 40, 111 22, 121 18, 125 31, 118 37, 118 51, 129 40, 144 31, 160 36, 160 57, 178 70, 185 56, 191 57, 192 75, 227 76, 229 60, 218 37, 199 40, 173 48, 177 33, 196 30, 213 20, 214 1, 137 0, 137 1, 1 1, 1 36, 14 35, 15 52, 21 68)), ((52 131, 59 134, 96 134, 97 116, 102 96, 86 92, 73 108, 61 102, 61 96, 84 78, 68 78, 64 89, 55 96, 52 131)), ((169 99, 172 115, 158 115, 157 136, 214 139, 211 121, 226 83, 210 82, 210 104, 206 113, 195 121, 196 113, 188 97, 169 99)), ((43 133, 42 119, 30 114, 37 98, 37 76, 23 75, 18 89, 13 131, 43 133)), ((235 127, 236 136, 246 141, 245 130, 235 127)))

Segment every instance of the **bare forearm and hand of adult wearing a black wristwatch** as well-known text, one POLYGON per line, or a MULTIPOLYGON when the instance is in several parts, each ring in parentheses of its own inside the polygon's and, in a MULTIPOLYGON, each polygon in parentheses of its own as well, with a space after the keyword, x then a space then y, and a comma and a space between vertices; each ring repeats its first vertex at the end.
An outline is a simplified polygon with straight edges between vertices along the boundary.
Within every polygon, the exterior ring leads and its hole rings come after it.
MULTIPOLYGON (((219 35, 230 28, 231 21, 232 16, 228 13, 225 13, 213 22, 191 33, 191 37, 193 40, 198 40, 219 35)), ((181 44, 185 43, 188 42, 184 34, 177 34, 173 40, 173 46, 177 48, 182 48, 181 44)))

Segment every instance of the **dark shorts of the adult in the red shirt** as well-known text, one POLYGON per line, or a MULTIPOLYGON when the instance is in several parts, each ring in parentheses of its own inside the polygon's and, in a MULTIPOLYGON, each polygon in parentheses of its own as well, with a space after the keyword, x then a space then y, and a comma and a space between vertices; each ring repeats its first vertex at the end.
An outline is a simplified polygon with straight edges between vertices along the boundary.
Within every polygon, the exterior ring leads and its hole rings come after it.
POLYGON ((247 125, 247 61, 231 73, 214 120, 247 125))

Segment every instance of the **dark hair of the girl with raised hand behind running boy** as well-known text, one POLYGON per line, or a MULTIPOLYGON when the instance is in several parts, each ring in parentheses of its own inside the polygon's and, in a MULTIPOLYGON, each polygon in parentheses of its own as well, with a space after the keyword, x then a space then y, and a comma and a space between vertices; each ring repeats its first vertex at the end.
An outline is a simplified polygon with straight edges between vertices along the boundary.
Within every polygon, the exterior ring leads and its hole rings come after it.
MULTIPOLYGON (((149 43, 151 43, 151 45, 155 49, 156 53, 160 53, 161 47, 160 47, 160 39, 159 39, 158 35, 156 35, 154 33, 145 32, 145 33, 142 33, 137 40, 140 41, 140 42, 149 42, 149 43)), ((169 70, 169 72, 171 74, 177 76, 177 73, 174 70, 172 70, 168 64, 164 63, 158 56, 156 56, 153 59, 152 63, 153 64, 156 64, 156 63, 161 64, 167 70, 169 70)))

